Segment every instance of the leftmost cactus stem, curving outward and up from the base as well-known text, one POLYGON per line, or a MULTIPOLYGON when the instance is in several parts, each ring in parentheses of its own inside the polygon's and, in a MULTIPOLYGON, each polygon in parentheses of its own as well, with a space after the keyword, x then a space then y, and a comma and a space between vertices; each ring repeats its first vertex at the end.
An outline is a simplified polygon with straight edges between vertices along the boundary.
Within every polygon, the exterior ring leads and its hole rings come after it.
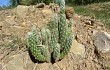
POLYGON ((29 43, 32 54, 37 60, 45 61, 46 60, 45 57, 41 54, 39 50, 37 50, 35 40, 36 40, 36 35, 33 32, 30 32, 29 37, 28 37, 28 43, 29 43))

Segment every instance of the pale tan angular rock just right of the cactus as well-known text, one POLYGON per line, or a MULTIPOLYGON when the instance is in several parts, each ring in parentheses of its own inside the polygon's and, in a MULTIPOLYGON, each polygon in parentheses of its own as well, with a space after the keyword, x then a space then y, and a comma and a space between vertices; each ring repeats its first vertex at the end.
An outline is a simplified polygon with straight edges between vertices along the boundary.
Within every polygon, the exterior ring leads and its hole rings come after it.
POLYGON ((85 46, 78 43, 76 40, 73 40, 70 52, 73 52, 75 55, 84 56, 85 46))

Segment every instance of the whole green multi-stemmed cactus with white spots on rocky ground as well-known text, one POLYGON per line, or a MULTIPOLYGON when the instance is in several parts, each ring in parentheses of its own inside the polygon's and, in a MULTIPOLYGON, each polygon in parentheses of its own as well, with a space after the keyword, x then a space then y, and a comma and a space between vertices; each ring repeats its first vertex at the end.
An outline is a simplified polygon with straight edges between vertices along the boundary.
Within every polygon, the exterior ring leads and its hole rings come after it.
POLYGON ((60 13, 54 16, 52 28, 36 27, 28 33, 28 44, 32 55, 39 61, 61 60, 69 52, 72 44, 72 21, 66 23, 65 0, 60 0, 60 13))

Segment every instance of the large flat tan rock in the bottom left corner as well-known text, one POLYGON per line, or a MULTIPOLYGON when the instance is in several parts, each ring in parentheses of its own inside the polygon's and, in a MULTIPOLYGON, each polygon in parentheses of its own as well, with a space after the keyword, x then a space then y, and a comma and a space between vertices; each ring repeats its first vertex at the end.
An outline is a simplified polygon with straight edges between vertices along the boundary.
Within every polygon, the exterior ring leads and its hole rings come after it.
POLYGON ((22 52, 21 54, 16 54, 11 57, 7 57, 6 61, 2 63, 4 68, 3 70, 33 70, 35 64, 31 61, 29 54, 27 52, 22 52))

